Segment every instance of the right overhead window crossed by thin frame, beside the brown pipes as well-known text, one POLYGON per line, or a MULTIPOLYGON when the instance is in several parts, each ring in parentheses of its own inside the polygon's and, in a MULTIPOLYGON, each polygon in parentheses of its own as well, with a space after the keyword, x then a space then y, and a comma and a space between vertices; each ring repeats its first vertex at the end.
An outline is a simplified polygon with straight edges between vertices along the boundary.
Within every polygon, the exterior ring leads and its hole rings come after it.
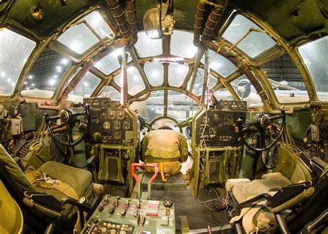
MULTIPOLYGON (((229 42, 235 44, 239 38, 246 33, 249 28, 259 28, 255 23, 247 19, 242 15, 237 15, 231 22, 228 28, 222 35, 229 42)), ((261 28, 259 28, 261 29, 261 28)), ((248 57, 256 57, 260 53, 275 46, 275 41, 271 39, 266 33, 251 32, 248 34, 242 42, 239 42, 237 47, 244 51, 248 57)))

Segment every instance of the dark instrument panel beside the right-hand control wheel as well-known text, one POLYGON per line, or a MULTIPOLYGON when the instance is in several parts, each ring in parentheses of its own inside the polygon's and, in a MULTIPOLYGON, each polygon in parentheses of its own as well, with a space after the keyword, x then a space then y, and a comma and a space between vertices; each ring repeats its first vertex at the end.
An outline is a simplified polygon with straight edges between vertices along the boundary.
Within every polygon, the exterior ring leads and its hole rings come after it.
POLYGON ((247 102, 220 100, 213 107, 201 111, 195 118, 195 145, 203 140, 207 146, 242 145, 239 139, 237 119, 246 119, 247 102))

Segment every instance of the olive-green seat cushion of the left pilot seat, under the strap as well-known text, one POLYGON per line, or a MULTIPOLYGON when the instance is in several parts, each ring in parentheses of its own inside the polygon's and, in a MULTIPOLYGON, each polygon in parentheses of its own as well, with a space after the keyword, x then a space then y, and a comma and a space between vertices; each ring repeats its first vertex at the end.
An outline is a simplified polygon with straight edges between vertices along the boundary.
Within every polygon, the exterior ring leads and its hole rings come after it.
MULTIPOLYGON (((46 173, 53 179, 58 179, 64 183, 69 184, 73 190, 78 194, 78 197, 83 197, 89 190, 92 184, 91 172, 74 168, 69 165, 58 163, 55 161, 47 161, 39 169, 41 172, 46 173)), ((57 199, 63 199, 67 196, 64 193, 55 190, 53 188, 36 188, 39 192, 47 192, 56 197, 57 199)))

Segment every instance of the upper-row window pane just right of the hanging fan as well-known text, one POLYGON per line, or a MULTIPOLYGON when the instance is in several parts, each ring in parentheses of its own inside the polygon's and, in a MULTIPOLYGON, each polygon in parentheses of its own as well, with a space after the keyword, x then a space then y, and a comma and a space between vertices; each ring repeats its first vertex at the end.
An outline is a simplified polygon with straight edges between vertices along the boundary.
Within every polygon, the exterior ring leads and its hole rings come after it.
POLYGON ((197 47, 192 42, 193 34, 174 30, 171 37, 171 54, 181 57, 194 57, 197 47))

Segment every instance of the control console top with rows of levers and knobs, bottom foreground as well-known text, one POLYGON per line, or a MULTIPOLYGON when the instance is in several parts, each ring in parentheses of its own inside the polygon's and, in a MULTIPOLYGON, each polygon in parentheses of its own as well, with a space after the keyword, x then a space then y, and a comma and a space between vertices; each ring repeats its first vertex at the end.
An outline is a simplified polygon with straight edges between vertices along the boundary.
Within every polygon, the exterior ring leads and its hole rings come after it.
POLYGON ((175 233, 171 201, 104 196, 82 233, 175 233))

